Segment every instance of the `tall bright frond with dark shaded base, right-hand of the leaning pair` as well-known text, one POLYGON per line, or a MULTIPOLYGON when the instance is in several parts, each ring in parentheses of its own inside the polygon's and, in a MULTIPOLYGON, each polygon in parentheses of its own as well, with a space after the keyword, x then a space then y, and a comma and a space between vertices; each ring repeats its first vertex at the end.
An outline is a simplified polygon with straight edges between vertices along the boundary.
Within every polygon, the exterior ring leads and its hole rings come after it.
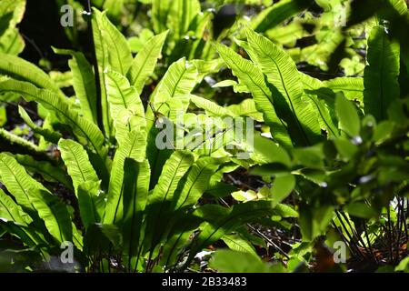
POLYGON ((320 141, 318 115, 308 98, 303 97, 303 83, 290 55, 264 36, 250 29, 246 32, 248 53, 274 86, 275 111, 287 123, 295 145, 308 146, 320 141))

